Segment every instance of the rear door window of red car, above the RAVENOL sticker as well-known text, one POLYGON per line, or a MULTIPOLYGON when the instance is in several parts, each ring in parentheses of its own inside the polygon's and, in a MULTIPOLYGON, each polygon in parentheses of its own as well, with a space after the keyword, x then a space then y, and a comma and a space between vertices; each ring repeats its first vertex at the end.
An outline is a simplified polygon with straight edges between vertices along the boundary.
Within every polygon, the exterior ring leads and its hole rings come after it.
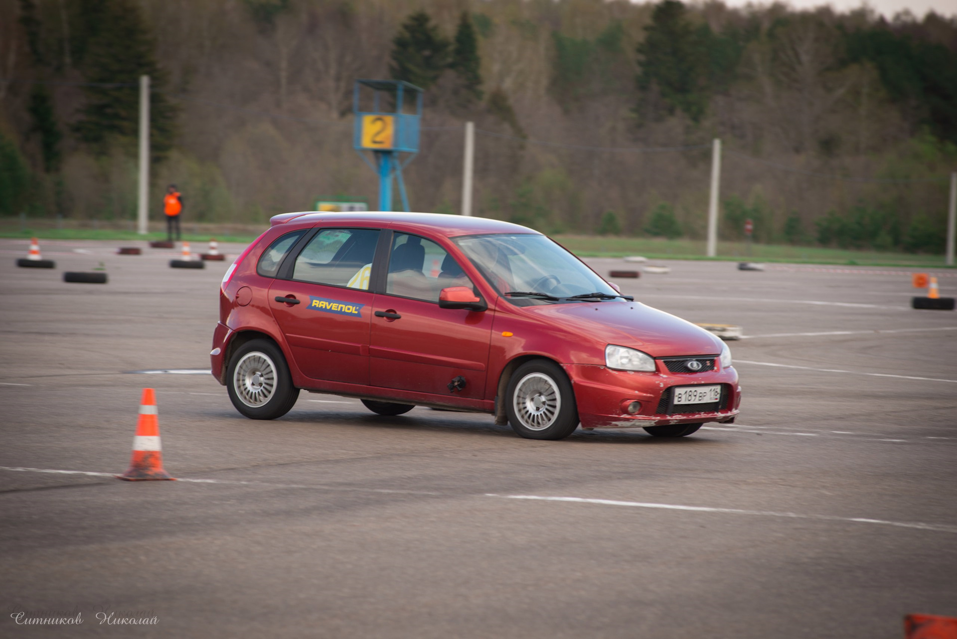
POLYGON ((378 241, 375 229, 323 229, 296 258, 293 279, 368 290, 378 241))

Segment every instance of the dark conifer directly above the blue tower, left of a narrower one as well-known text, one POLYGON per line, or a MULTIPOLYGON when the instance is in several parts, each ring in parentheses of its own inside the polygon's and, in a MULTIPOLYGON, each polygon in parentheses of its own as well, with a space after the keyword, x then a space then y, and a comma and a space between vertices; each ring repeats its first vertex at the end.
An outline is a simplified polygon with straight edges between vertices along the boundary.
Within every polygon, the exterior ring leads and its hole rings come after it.
POLYGON ((450 47, 449 40, 439 33, 429 14, 416 11, 392 40, 389 71, 394 79, 428 89, 449 66, 450 47))

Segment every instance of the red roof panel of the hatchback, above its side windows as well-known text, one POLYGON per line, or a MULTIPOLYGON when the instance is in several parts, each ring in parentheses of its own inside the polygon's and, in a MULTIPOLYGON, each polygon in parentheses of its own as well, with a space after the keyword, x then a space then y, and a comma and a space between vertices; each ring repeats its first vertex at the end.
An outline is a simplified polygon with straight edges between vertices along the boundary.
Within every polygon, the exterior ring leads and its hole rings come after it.
POLYGON ((407 213, 401 211, 351 211, 325 212, 301 211, 298 213, 282 213, 270 218, 273 226, 290 222, 331 222, 333 224, 350 224, 355 222, 379 222, 390 229, 404 229, 407 231, 432 231, 446 237, 456 235, 476 235, 481 233, 535 233, 539 231, 523 227, 511 222, 493 220, 487 217, 465 217, 463 215, 448 215, 445 213, 407 213))

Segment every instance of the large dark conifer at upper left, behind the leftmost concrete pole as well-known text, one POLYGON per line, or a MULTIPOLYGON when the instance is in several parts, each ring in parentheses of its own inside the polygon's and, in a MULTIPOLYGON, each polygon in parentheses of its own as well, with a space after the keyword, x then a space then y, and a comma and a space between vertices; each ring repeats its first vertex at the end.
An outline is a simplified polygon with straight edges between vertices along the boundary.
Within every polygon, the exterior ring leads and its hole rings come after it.
POLYGON ((116 138, 135 139, 139 130, 141 75, 150 77, 149 143, 153 159, 172 146, 176 110, 163 96, 164 74, 153 54, 153 39, 131 0, 103 0, 103 23, 90 42, 83 71, 87 103, 74 125, 80 141, 105 152, 116 138), (116 86, 123 84, 125 86, 116 86))

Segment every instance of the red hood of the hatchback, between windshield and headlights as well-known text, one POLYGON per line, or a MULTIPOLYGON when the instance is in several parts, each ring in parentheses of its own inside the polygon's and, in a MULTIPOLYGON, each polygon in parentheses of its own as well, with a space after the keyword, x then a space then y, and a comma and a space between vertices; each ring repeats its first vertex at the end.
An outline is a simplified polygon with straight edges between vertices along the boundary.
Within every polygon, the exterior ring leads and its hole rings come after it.
POLYGON ((588 339, 637 348, 652 357, 716 355, 722 342, 690 321, 640 302, 547 304, 525 307, 588 339))

